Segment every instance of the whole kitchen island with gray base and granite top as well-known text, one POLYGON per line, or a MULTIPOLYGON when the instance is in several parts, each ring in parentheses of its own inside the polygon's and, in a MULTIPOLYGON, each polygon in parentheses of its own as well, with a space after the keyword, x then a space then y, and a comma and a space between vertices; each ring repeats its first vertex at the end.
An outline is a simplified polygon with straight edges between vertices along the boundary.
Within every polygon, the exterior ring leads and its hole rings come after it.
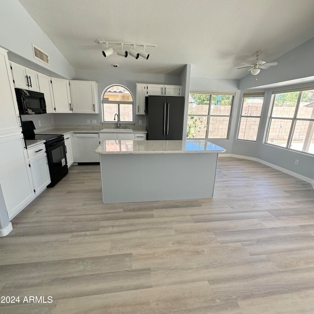
POLYGON ((103 202, 211 198, 223 152, 207 140, 105 140, 96 150, 103 202))

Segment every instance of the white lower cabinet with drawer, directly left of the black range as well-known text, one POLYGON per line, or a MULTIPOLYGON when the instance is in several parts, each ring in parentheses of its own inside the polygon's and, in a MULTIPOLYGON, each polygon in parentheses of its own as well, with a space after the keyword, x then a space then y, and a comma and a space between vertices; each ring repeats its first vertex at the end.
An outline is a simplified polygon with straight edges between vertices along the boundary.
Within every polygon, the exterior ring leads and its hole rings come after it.
POLYGON ((32 147, 27 154, 34 193, 37 195, 51 183, 45 144, 32 147))

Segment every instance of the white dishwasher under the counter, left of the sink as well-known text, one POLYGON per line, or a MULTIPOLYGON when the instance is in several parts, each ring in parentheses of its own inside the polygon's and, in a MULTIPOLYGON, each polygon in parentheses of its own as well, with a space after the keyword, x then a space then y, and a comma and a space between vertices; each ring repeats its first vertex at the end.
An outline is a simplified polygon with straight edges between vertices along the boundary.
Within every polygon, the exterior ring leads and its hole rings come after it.
POLYGON ((98 133, 73 134, 76 162, 100 162, 99 154, 95 153, 99 146, 98 133))

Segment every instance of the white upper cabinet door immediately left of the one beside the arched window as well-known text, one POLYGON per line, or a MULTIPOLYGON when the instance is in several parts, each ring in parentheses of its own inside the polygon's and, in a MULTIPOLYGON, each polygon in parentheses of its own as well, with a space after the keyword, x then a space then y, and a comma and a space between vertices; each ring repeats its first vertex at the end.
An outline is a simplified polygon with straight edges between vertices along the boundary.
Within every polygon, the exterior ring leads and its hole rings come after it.
POLYGON ((52 78, 52 92, 55 112, 72 113, 69 80, 52 78))

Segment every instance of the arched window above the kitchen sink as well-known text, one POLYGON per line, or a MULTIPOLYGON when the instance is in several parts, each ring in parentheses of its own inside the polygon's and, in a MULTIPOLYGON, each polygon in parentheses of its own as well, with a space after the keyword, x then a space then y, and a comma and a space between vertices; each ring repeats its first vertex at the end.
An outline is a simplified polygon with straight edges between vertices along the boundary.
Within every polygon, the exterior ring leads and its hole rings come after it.
POLYGON ((133 123, 133 96, 123 85, 110 85, 103 92, 103 121, 113 122, 118 115, 121 123, 133 123))

